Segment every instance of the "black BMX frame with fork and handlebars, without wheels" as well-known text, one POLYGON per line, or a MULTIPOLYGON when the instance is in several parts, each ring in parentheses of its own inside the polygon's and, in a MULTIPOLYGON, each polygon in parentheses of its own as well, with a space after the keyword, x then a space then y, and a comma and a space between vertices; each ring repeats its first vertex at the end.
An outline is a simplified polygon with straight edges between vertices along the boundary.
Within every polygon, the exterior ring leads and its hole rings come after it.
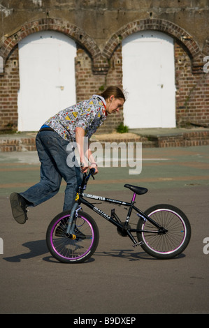
POLYGON ((164 233, 164 228, 161 227, 161 225, 159 225, 154 220, 152 220, 152 218, 150 218, 149 216, 144 214, 143 211, 140 211, 140 209, 135 207, 134 203, 135 203, 135 199, 136 199, 136 193, 134 193, 134 195, 131 199, 131 202, 124 202, 124 201, 121 201, 121 200, 114 200, 114 199, 111 199, 111 198, 106 198, 106 197, 102 197, 102 196, 98 196, 98 195, 91 195, 91 194, 88 194, 88 193, 84 193, 83 191, 85 190, 86 185, 87 185, 87 181, 88 181, 88 179, 91 175, 92 174, 89 173, 89 175, 87 175, 87 177, 84 177, 84 179, 82 181, 82 184, 79 188, 79 192, 78 192, 77 197, 76 197, 78 199, 76 199, 76 202, 75 202, 75 204, 73 206, 73 209, 71 211, 71 218, 69 219, 69 225, 68 225, 66 234, 71 235, 71 233, 73 232, 73 228, 74 228, 74 226, 73 226, 73 217, 74 216, 76 217, 78 215, 77 213, 78 213, 79 209, 81 208, 80 204, 86 205, 87 207, 89 207, 89 209, 92 209, 93 211, 95 211, 97 214, 99 214, 103 218, 106 218, 106 220, 108 220, 110 223, 112 223, 118 229, 120 229, 120 231, 122 233, 124 233, 124 236, 127 235, 131 239, 131 241, 133 241, 134 246, 140 245, 141 242, 138 243, 138 241, 136 241, 136 239, 131 234, 131 232, 149 232, 149 233, 153 233, 153 234, 164 233), (112 209, 111 216, 109 216, 105 212, 101 211, 101 209, 94 206, 94 204, 92 204, 92 203, 88 202, 87 200, 85 200, 84 197, 87 197, 87 198, 90 198, 90 199, 93 199, 93 200, 100 200, 101 202, 108 202, 108 203, 113 203, 113 204, 123 205, 125 207, 129 207, 126 221, 124 223, 122 223, 120 221, 120 218, 118 218, 118 216, 115 214, 115 209, 112 209), (133 209, 136 211, 136 214, 137 214, 138 217, 142 218, 144 221, 149 221, 150 223, 152 223, 152 225, 154 225, 154 227, 156 227, 157 230, 138 230, 138 229, 129 228, 128 224, 129 224, 131 213, 132 213, 133 209))

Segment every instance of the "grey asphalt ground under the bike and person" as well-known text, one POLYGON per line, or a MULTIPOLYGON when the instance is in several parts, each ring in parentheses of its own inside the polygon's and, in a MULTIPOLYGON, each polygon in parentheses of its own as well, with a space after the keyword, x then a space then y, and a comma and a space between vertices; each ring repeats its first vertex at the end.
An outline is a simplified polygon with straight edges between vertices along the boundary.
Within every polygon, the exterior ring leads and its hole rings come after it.
MULTIPOLYGON (((178 258, 156 260, 84 208, 99 226, 99 246, 83 264, 62 264, 50 255, 45 232, 62 211, 64 184, 51 200, 30 209, 27 223, 19 225, 8 198, 39 180, 38 157, 36 152, 0 154, 1 314, 66 313, 71 320, 117 314, 139 320, 139 314, 209 313, 209 147, 143 149, 140 174, 129 170, 99 167, 87 192, 129 201, 131 192, 124 184, 148 188, 136 197, 136 206, 145 210, 168 203, 182 209, 192 226, 189 246, 178 258)), ((94 202, 110 214, 113 205, 94 202)), ((115 209, 126 218, 126 209, 115 209)))

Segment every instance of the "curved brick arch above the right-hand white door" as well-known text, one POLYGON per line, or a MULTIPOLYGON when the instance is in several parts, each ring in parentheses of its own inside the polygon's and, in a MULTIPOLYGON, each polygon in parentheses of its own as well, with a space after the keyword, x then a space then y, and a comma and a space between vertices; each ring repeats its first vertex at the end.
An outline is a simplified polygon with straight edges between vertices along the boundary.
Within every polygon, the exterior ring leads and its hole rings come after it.
POLYGON ((145 30, 154 30, 154 31, 161 31, 178 42, 186 49, 187 53, 189 54, 190 59, 192 60, 192 68, 196 73, 199 73, 199 69, 203 66, 202 54, 201 49, 185 29, 178 27, 178 25, 168 22, 166 20, 160 19, 146 19, 146 20, 137 20, 135 22, 131 22, 121 29, 119 29, 116 33, 111 36, 106 43, 106 46, 103 49, 103 55, 108 59, 112 56, 115 48, 120 45, 124 38, 127 36, 136 33, 138 31, 145 31, 145 30))

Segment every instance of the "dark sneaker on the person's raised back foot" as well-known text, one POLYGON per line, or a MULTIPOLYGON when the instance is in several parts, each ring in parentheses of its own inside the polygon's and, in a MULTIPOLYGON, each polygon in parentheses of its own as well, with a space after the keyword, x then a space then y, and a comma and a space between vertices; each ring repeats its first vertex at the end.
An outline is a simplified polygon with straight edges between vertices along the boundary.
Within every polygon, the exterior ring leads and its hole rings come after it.
POLYGON ((10 195, 10 204, 14 219, 23 224, 27 220, 27 204, 24 198, 19 193, 12 193, 10 195))

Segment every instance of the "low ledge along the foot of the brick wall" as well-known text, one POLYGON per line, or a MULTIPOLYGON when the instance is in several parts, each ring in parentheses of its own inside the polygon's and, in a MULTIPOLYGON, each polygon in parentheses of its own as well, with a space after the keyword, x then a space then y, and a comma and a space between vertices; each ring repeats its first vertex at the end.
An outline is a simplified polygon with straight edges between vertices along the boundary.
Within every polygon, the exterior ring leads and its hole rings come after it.
MULTIPOLYGON (((209 128, 131 129, 130 133, 94 135, 92 142, 142 142, 143 148, 209 145, 209 128)), ((0 135, 0 152, 36 151, 36 133, 0 135)))

